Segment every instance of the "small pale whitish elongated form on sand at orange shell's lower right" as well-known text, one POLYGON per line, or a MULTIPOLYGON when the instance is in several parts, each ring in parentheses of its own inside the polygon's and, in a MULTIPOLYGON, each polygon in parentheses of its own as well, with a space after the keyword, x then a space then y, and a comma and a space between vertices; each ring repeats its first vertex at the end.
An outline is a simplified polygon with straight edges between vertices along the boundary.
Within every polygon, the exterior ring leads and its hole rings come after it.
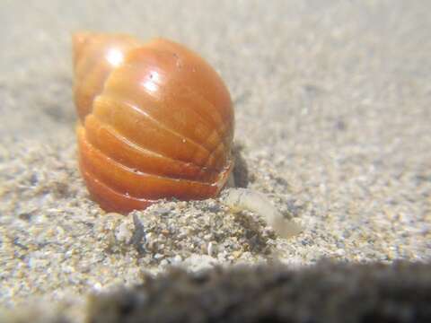
POLYGON ((291 238, 302 231, 299 224, 287 220, 283 214, 278 212, 266 196, 251 189, 226 189, 222 202, 233 212, 248 210, 259 214, 281 238, 291 238))

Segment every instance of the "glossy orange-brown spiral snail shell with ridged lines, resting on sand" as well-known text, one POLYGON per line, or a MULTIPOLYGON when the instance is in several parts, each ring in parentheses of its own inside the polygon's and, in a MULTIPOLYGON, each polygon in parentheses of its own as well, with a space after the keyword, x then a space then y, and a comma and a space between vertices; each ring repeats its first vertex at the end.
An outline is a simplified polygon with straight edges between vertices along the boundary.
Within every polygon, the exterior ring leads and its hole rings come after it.
POLYGON ((160 198, 217 196, 233 169, 233 105, 216 71, 166 39, 73 37, 76 129, 85 184, 126 214, 160 198))

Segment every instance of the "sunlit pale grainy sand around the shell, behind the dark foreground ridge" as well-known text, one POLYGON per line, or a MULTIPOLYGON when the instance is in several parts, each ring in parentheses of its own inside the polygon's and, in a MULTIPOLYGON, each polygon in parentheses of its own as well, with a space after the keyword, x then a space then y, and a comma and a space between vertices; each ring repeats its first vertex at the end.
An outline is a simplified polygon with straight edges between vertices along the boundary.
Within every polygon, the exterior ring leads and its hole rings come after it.
POLYGON ((2 0, 0 305, 79 298, 171 264, 429 261, 430 12, 427 0, 2 0), (257 214, 247 227, 217 199, 161 202, 136 213, 145 253, 125 243, 131 216, 101 216, 76 168, 79 30, 174 39, 215 66, 249 188, 303 233, 279 239, 257 214))

